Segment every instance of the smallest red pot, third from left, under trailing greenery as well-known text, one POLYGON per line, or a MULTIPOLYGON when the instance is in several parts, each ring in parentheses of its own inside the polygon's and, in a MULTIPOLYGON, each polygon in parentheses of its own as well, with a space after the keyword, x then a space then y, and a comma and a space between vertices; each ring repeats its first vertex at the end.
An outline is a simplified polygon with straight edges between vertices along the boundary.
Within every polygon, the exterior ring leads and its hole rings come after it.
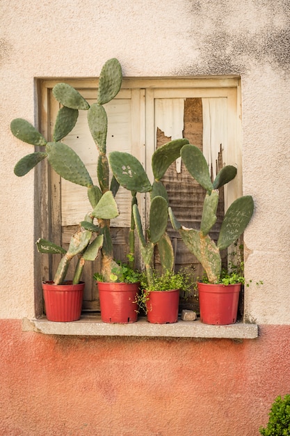
POLYGON ((177 322, 179 289, 151 290, 147 300, 147 320, 154 324, 177 322))

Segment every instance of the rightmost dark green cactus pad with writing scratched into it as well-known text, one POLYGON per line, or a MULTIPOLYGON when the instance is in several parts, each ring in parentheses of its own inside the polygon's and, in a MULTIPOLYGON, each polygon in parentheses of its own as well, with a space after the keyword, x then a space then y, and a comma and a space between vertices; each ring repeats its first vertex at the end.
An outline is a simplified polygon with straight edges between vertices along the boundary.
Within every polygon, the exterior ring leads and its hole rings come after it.
POLYGON ((229 247, 239 238, 248 226, 253 212, 254 201, 250 195, 237 198, 229 206, 218 237, 217 245, 220 250, 229 247))

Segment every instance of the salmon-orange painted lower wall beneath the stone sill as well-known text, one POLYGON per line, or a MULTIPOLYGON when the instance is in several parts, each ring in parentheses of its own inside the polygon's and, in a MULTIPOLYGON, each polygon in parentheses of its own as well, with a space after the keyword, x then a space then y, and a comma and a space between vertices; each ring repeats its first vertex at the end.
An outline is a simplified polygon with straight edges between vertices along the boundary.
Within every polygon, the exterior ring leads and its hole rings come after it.
POLYGON ((290 326, 256 340, 97 338, 0 321, 1 436, 256 436, 290 392, 290 326))

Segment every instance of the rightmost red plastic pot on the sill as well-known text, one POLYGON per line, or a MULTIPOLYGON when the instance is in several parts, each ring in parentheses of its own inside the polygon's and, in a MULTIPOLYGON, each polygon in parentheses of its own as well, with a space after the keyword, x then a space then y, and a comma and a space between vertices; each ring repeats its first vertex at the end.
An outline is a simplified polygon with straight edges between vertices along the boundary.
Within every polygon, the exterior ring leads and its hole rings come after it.
POLYGON ((211 325, 234 324, 240 290, 241 283, 225 286, 198 282, 200 320, 211 325))

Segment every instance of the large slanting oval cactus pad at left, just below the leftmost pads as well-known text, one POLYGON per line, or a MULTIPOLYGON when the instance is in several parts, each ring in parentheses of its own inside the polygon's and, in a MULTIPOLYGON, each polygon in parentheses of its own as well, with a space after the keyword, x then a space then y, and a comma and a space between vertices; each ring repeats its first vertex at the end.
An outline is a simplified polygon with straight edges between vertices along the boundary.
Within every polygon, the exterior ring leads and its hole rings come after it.
POLYGON ((76 185, 92 187, 92 179, 79 156, 62 142, 49 142, 46 147, 47 159, 54 171, 76 185))

